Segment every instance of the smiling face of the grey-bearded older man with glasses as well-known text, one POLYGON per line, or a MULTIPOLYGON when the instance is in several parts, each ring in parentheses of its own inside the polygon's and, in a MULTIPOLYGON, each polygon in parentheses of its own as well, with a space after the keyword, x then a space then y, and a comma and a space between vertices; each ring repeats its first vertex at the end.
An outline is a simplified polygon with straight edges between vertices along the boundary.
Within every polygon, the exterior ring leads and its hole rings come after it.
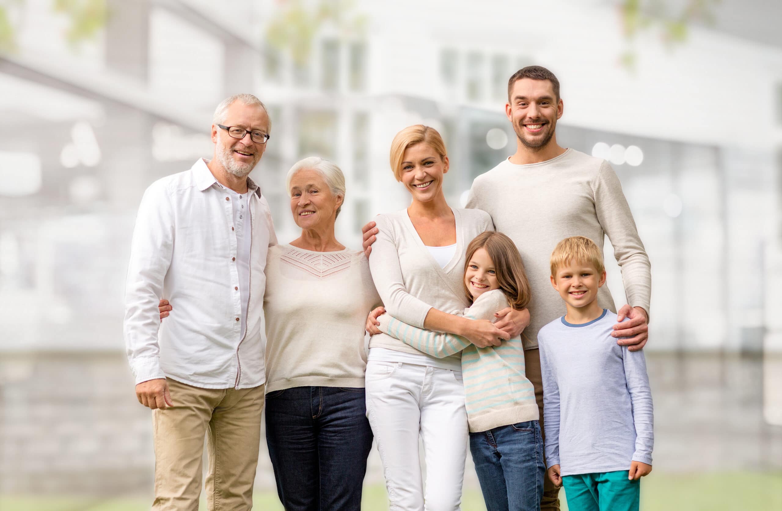
MULTIPOLYGON (((228 106, 223 122, 224 126, 239 126, 246 130, 269 132, 269 118, 266 111, 257 105, 244 105, 235 101, 228 106)), ((233 139, 228 131, 212 124, 212 142, 215 142, 214 157, 224 169, 237 178, 244 178, 255 168, 264 155, 266 144, 250 139, 249 131, 243 139, 233 139)))

